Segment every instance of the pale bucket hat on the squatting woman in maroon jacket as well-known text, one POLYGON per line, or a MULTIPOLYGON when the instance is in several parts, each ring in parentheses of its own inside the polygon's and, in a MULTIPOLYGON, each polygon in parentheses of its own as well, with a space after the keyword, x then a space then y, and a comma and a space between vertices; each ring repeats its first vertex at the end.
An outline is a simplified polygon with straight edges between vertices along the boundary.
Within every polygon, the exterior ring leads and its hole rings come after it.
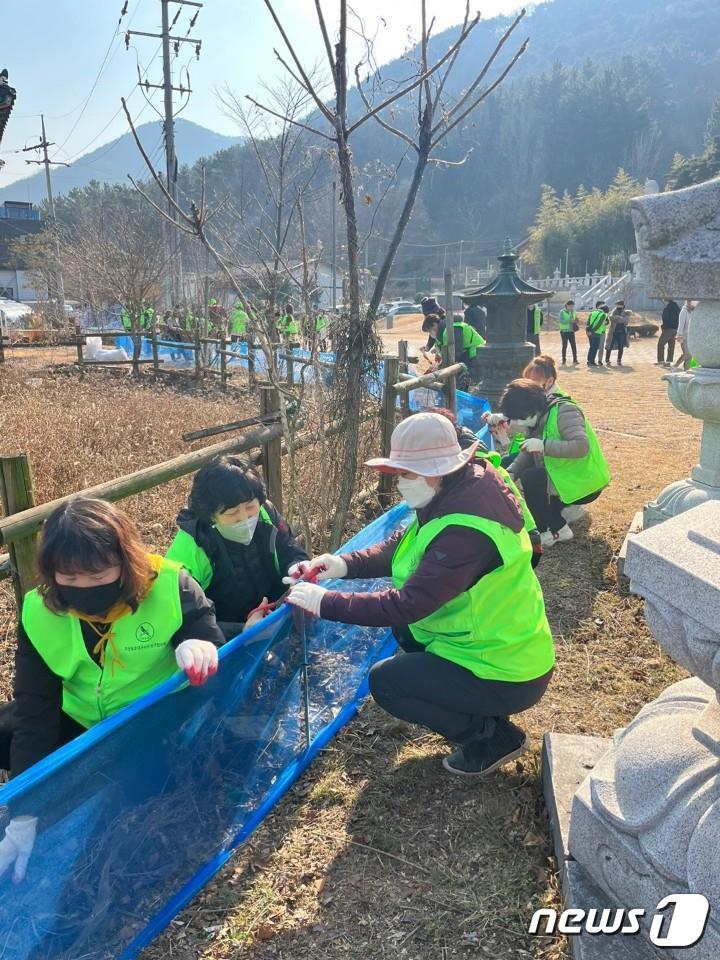
POLYGON ((479 440, 461 450, 455 427, 440 413, 416 413, 393 430, 390 456, 368 460, 366 467, 405 471, 421 477, 444 477, 469 463, 479 440))

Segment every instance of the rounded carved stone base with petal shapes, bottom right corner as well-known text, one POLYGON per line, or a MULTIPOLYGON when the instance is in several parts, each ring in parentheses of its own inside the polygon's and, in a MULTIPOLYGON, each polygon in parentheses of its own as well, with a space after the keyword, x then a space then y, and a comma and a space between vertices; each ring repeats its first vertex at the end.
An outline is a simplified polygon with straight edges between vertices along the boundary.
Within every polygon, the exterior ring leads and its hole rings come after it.
POLYGON ((569 845, 613 902, 645 910, 646 937, 665 897, 703 894, 704 936, 663 955, 720 957, 720 704, 711 687, 673 684, 616 734, 575 794, 569 845))

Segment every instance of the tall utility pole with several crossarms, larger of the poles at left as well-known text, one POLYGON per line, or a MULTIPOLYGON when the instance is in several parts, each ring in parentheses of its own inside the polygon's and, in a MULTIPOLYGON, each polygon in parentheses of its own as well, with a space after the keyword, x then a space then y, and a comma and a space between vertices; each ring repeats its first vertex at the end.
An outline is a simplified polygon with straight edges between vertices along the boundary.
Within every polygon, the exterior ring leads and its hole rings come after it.
MULTIPOLYGON (((195 22, 198 18, 200 10, 203 7, 202 3, 197 3, 196 0, 160 0, 160 5, 162 9, 162 28, 160 33, 147 33, 143 30, 128 30, 125 34, 125 46, 129 48, 130 46, 130 37, 152 37, 156 40, 162 41, 162 53, 163 53, 163 82, 162 83, 149 83, 148 80, 143 80, 138 69, 138 86, 142 87, 146 92, 151 89, 162 90, 165 98, 165 120, 163 124, 163 134, 165 137, 165 173, 166 173, 166 186, 168 193, 173 201, 177 201, 177 154, 175 153, 175 115, 173 107, 173 93, 179 93, 181 96, 192 93, 190 89, 190 81, 188 78, 188 86, 184 87, 182 83, 180 86, 173 86, 172 82, 172 67, 170 62, 170 44, 172 43, 175 56, 178 55, 180 50, 181 43, 190 43, 195 47, 195 55, 197 59, 200 59, 200 48, 202 46, 202 40, 198 40, 190 36, 190 31, 195 26, 195 22), (172 22, 170 21, 170 4, 173 3, 179 7, 178 11, 175 13, 172 22), (184 37, 175 36, 170 31, 173 29, 175 24, 180 18, 183 7, 195 7, 196 13, 191 18, 190 24, 188 27, 188 32, 184 37)), ((171 202, 168 202, 168 216, 173 221, 176 222, 176 214, 171 202)), ((167 226, 166 229, 166 238, 167 238, 167 257, 168 257, 168 276, 167 283, 165 285, 165 306, 173 307, 181 299, 183 299, 183 282, 182 282, 182 262, 180 257, 180 233, 176 227, 167 226)))

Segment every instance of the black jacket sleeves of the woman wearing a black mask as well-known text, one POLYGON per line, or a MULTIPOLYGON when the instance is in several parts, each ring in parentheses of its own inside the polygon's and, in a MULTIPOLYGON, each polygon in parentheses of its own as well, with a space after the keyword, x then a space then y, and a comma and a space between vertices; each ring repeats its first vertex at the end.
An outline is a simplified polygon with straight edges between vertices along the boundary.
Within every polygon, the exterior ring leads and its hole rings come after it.
MULTIPOLYGON (((179 586, 183 622, 171 638, 173 647, 179 646, 183 640, 193 639, 209 640, 216 646, 223 644, 225 638, 215 621, 212 603, 184 570, 180 571, 179 586)), ((97 634, 85 621, 81 621, 81 628, 88 654, 99 663, 99 654, 93 652, 97 634)), ((48 667, 20 624, 15 652, 11 777, 27 770, 59 746, 58 738, 64 719, 62 697, 62 680, 48 667)), ((65 719, 67 726, 68 718, 65 719)), ((77 733, 80 730, 78 725, 77 733)))

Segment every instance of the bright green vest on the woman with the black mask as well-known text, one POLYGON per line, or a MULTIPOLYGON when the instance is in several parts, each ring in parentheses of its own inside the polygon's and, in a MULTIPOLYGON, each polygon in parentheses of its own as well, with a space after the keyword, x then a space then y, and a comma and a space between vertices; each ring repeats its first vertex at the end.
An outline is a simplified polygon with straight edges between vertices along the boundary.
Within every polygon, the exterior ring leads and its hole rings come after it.
POLYGON ((170 640, 182 626, 180 564, 161 560, 150 592, 135 613, 117 620, 112 638, 123 666, 112 664, 108 643, 105 666, 87 652, 80 620, 53 613, 39 591, 25 596, 22 625, 33 647, 63 685, 63 711, 83 727, 133 703, 177 672, 170 640))

